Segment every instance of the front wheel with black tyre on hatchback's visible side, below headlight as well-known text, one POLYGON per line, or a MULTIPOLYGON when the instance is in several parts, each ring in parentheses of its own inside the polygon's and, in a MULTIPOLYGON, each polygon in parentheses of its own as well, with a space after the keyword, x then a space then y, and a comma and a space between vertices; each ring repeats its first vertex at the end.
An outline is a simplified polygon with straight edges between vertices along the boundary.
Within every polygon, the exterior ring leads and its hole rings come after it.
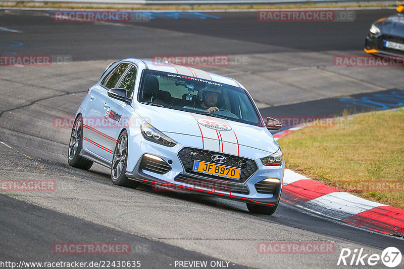
POLYGON ((126 165, 128 163, 128 132, 122 131, 115 145, 112 157, 111 179, 112 183, 119 186, 136 188, 139 182, 126 177, 126 165), (125 146, 126 143, 126 146, 125 146))

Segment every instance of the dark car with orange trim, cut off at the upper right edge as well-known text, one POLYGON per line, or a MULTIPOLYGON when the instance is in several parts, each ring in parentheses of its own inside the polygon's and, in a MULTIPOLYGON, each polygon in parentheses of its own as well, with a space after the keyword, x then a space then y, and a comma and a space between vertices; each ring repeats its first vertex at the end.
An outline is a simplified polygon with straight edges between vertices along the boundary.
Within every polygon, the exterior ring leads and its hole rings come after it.
POLYGON ((365 51, 372 54, 402 57, 404 55, 404 6, 397 14, 375 21, 365 41, 365 51))

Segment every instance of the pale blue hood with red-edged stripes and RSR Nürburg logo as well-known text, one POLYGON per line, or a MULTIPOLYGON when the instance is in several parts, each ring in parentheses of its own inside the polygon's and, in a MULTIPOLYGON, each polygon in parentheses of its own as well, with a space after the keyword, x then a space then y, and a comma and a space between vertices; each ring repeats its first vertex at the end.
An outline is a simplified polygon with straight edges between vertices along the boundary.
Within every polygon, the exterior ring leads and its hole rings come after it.
POLYGON ((139 106, 137 113, 168 137, 170 133, 200 137, 208 150, 231 154, 241 145, 272 154, 279 149, 270 131, 263 127, 169 108, 139 106))

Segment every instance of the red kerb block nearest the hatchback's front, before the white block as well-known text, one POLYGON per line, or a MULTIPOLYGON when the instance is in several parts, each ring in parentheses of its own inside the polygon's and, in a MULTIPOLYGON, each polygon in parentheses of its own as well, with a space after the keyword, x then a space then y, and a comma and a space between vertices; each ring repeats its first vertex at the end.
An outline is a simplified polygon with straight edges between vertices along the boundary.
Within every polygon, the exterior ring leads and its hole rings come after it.
POLYGON ((313 179, 301 179, 284 185, 281 199, 293 205, 299 205, 325 194, 340 191, 313 179))

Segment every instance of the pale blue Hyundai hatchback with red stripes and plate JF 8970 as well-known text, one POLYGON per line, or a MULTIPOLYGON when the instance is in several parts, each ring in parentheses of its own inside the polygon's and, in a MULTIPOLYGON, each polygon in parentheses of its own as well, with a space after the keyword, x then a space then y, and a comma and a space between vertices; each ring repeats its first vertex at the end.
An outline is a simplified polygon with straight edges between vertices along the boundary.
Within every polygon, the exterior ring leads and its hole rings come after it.
POLYGON ((181 65, 138 59, 112 63, 76 113, 68 162, 111 168, 114 184, 243 201, 250 212, 278 206, 284 157, 245 88, 181 65))

